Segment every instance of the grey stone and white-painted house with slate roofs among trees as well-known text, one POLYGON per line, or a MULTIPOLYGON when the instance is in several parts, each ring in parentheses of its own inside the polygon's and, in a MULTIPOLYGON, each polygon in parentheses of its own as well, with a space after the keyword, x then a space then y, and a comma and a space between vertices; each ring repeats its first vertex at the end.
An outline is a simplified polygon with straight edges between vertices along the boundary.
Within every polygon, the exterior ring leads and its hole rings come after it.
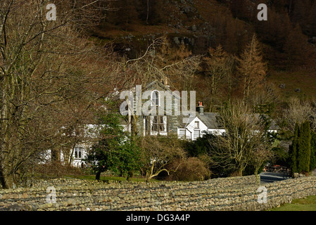
MULTIPOLYGON (((147 86, 144 87, 142 91, 150 91, 150 100, 151 106, 156 107, 156 111, 163 110, 164 112, 169 112, 170 110, 175 111, 177 105, 179 106, 179 101, 181 97, 170 90, 168 84, 164 82, 151 82, 147 86), (165 105, 164 94, 170 94, 174 100, 172 101, 171 108, 165 105)), ((132 91, 132 93, 135 92, 132 91)), ((141 92, 142 93, 142 92, 141 92)), ((118 93, 117 93, 118 95, 118 93)), ((135 93, 132 94, 134 96, 133 100, 133 111, 137 112, 137 95, 135 93)), ((148 101, 147 99, 141 100, 141 103, 148 101)), ((190 107, 191 110, 191 107, 190 107)), ((129 118, 128 121, 130 121, 129 118)), ((184 115, 139 115, 137 119, 137 130, 139 135, 169 135, 169 134, 177 134, 179 139, 187 139, 190 141, 194 141, 198 139, 198 137, 203 136, 203 134, 212 132, 213 134, 222 134, 225 132, 225 129, 217 123, 217 113, 204 113, 202 102, 198 102, 198 106, 196 107, 196 112, 191 113, 191 116, 184 115)), ((106 125, 101 125, 106 126, 106 125)), ((127 121, 122 121, 122 127, 125 131, 132 130, 132 123, 128 123, 127 121)), ((72 149, 70 149, 70 157, 64 157, 63 152, 61 151, 61 162, 65 162, 70 160, 71 165, 75 167, 83 167, 84 162, 82 159, 87 155, 87 151, 91 146, 98 140, 98 133, 101 129, 100 125, 95 124, 82 124, 82 131, 79 132, 79 135, 84 136, 84 139, 80 139, 80 142, 76 142, 75 145, 72 145, 72 149)), ((277 131, 277 127, 275 123, 272 122, 270 127, 270 131, 277 131)), ((75 131, 74 131, 75 132, 75 131)), ((76 136, 77 134, 71 134, 71 137, 76 136)), ((46 160, 50 157, 47 156, 50 154, 46 154, 46 160)))

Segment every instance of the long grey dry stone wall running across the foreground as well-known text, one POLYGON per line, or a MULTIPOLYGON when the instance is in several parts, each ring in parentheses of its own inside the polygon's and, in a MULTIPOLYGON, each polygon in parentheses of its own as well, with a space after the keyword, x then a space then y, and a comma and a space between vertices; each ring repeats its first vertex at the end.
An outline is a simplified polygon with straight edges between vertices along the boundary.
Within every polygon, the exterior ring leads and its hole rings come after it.
POLYGON ((316 195, 316 176, 262 187, 255 176, 148 184, 51 179, 37 181, 32 188, 0 190, 0 210, 266 210, 316 195), (47 192, 49 187, 56 193, 56 202, 47 192), (261 199, 264 192, 266 202, 261 199))

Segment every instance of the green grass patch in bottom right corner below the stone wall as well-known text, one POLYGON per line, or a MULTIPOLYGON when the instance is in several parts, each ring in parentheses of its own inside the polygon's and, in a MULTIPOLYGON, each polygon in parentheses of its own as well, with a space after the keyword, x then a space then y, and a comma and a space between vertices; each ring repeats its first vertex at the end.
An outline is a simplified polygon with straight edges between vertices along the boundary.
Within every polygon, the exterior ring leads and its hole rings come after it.
POLYGON ((316 196, 295 199, 292 203, 286 203, 269 211, 316 211, 316 196))

